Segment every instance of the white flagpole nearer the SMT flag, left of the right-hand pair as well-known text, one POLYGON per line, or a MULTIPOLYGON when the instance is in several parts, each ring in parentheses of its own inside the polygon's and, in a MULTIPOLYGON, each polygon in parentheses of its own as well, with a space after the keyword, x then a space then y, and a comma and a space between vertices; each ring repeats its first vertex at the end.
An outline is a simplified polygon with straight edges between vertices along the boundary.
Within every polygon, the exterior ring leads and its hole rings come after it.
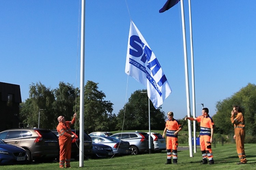
MULTIPOLYGON (((185 17, 184 17, 184 5, 181 0, 181 18, 182 18, 182 33, 183 33, 183 50, 184 50, 184 64, 185 64, 185 78, 186 78, 186 96, 187 96, 187 116, 190 117, 190 96, 189 96, 189 83, 188 83, 188 64, 187 64, 187 45, 186 45, 186 30, 185 30, 185 17)), ((192 151, 192 133, 191 133, 191 121, 188 120, 188 145, 190 157, 193 157, 192 151)))

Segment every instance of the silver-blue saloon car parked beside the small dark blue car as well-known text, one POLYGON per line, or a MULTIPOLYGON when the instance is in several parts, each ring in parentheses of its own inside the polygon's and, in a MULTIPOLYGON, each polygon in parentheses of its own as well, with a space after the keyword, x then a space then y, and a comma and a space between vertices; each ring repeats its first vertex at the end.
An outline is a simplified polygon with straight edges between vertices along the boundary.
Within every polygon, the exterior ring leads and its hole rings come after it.
POLYGON ((113 149, 114 154, 130 154, 131 150, 129 148, 130 143, 127 141, 122 141, 110 136, 91 136, 91 139, 95 143, 100 143, 103 145, 108 145, 113 149))

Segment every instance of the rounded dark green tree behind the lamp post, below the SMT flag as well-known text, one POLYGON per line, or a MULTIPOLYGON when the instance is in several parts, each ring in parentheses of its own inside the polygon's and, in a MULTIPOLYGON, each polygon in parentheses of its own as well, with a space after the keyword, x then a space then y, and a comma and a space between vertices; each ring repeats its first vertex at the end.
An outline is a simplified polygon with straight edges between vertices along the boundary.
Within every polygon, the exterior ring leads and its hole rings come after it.
MULTIPOLYGON (((148 129, 148 97, 145 92, 145 89, 134 91, 128 103, 119 111, 117 115, 117 128, 119 130, 148 129)), ((165 119, 166 116, 161 111, 161 107, 155 109, 150 101, 151 129, 163 130, 165 128, 165 119)))

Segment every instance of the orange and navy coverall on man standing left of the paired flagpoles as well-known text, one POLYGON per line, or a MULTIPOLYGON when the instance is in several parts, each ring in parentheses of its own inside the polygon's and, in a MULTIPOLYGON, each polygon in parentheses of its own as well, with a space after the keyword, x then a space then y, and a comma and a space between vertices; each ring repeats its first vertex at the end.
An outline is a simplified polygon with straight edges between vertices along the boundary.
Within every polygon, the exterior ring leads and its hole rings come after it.
POLYGON ((171 159, 171 156, 173 159, 177 159, 177 147, 179 145, 178 143, 178 135, 174 135, 174 132, 176 132, 181 127, 180 123, 175 120, 167 120, 166 121, 166 150, 167 150, 167 159, 171 159))

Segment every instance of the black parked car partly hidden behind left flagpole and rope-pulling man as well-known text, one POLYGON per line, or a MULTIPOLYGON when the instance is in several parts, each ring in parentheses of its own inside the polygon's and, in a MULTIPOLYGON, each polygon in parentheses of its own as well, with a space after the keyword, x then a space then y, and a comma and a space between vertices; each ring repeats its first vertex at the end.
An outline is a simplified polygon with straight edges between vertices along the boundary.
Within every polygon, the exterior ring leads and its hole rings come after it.
MULTIPOLYGON (((52 130, 52 132, 59 137, 59 133, 57 130, 52 130)), ((71 158, 79 158, 79 130, 71 130, 71 132, 75 135, 74 138, 72 138, 71 143, 71 158)), ((84 156, 88 156, 90 154, 93 154, 93 142, 91 140, 91 137, 84 132, 84 156)))

